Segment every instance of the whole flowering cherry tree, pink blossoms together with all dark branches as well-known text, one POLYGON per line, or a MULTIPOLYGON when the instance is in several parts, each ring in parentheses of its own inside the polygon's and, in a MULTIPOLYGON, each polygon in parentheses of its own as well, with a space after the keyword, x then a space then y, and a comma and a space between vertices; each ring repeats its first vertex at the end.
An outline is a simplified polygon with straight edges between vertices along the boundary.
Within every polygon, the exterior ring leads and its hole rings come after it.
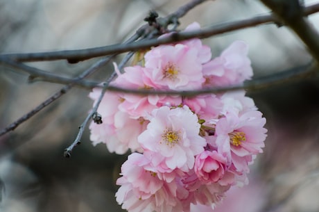
MULTIPOLYGON (((135 35, 123 44, 83 50, 35 54, 2 54, 3 65, 40 79, 65 84, 37 108, 0 131, 14 130, 22 122, 65 95, 74 85, 92 89, 94 105, 79 127, 74 142, 64 151, 70 157, 80 144, 90 120, 90 140, 105 143, 110 152, 132 152, 121 166, 116 199, 128 211, 198 211, 214 209, 227 190, 248 184, 249 165, 263 152, 266 119, 245 91, 300 79, 313 69, 288 70, 252 79, 248 45, 236 40, 220 56, 200 38, 265 23, 290 27, 319 60, 318 33, 307 15, 318 4, 299 1, 262 1, 273 13, 200 28, 193 22, 177 30, 178 19, 204 1, 193 0, 167 17, 151 11, 135 35), (107 81, 85 78, 127 52, 107 81), (105 56, 74 79, 51 74, 26 62, 67 60, 79 63, 105 56), (126 65, 133 56, 131 65, 126 65)), ((311 66, 312 67, 312 66, 311 66)))

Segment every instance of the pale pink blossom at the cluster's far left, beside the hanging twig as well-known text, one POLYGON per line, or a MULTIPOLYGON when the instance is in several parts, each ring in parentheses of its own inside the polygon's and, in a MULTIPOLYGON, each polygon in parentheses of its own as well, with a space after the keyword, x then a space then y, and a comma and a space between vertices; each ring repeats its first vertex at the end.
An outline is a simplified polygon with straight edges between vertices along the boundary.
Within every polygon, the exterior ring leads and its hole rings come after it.
MULTIPOLYGON (((101 89, 94 88, 89 94, 89 97, 94 99, 94 104, 97 101, 101 89)), ((107 145, 110 152, 117 154, 124 154, 131 149, 132 151, 141 151, 141 147, 137 142, 137 137, 146 129, 147 120, 132 119, 128 113, 119 111, 119 104, 121 104, 121 97, 115 93, 106 92, 100 106, 98 113, 102 116, 102 124, 92 122, 89 125, 91 130, 90 140, 96 145, 103 142, 107 145)))

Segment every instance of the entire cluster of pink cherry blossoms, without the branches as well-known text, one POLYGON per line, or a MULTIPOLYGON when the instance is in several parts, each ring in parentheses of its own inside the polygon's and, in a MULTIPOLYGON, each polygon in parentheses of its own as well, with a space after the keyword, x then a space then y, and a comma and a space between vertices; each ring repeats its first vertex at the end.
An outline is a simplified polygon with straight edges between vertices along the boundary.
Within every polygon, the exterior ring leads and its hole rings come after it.
MULTIPOLYGON (((198 28, 193 23, 185 30, 198 28)), ((161 45, 123 74, 114 65, 119 76, 112 85, 176 91, 239 85, 252 77, 247 54, 241 41, 216 58, 199 39, 161 45)), ((97 101, 100 93, 94 88, 89 97, 97 101)), ((93 144, 133 152, 121 167, 116 194, 129 212, 213 207, 231 186, 248 183, 248 165, 266 139, 266 119, 244 91, 197 97, 106 92, 98 113, 103 122, 89 127, 93 144)))

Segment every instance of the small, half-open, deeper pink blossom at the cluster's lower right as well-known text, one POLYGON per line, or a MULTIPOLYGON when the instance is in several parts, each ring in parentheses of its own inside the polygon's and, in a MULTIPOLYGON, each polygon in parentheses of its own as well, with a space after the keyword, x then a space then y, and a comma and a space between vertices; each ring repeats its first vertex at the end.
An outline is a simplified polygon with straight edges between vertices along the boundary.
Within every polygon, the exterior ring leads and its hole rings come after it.
POLYGON ((194 170, 200 181, 205 184, 216 183, 226 172, 227 159, 216 151, 204 151, 195 159, 194 170))

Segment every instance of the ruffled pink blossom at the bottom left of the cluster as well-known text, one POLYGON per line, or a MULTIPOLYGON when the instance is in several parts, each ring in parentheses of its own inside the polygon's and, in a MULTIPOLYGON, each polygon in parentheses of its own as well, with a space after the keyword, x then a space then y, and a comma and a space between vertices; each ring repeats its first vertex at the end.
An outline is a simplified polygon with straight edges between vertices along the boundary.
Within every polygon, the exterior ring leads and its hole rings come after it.
POLYGON ((117 202, 129 212, 183 211, 181 200, 188 197, 179 179, 170 183, 162 181, 156 172, 147 170, 150 161, 143 154, 133 153, 121 168, 121 186, 117 191, 117 202))

